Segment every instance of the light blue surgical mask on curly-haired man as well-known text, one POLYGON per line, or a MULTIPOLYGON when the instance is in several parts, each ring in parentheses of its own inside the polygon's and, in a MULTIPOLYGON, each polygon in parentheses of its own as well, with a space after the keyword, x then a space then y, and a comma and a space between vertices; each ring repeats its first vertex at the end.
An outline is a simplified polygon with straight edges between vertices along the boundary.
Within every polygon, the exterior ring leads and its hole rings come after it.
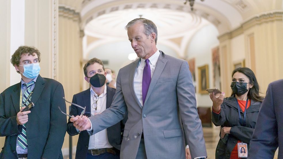
MULTIPOLYGON (((22 66, 22 65, 20 65, 22 66)), ((39 63, 33 63, 33 64, 26 64, 24 67, 24 73, 22 73, 26 78, 35 78, 39 75, 40 67, 39 63)))

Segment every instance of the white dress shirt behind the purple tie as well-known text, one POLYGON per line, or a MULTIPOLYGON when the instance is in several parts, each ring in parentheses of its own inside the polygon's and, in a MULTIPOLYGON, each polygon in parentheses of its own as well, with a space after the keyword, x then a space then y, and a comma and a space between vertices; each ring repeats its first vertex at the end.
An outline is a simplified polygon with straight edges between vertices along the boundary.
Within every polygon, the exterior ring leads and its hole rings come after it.
MULTIPOLYGON (((150 66, 150 72, 151 72, 151 78, 153 75, 153 72, 155 70, 155 66, 158 60, 160 52, 157 51, 148 58, 149 60, 149 66, 150 66)), ((138 98, 138 101, 140 101, 140 104, 143 106, 143 68, 145 67, 145 59, 140 58, 140 63, 138 64, 138 68, 136 69, 135 77, 134 77, 134 91, 136 93, 136 97, 138 98)))

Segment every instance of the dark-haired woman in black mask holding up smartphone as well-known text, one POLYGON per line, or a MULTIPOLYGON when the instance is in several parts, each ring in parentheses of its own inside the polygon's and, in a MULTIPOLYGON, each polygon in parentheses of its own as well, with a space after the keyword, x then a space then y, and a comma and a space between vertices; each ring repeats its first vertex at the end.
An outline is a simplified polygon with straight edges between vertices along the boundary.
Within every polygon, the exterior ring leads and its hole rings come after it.
MULTIPOLYGON (((238 145, 249 147, 263 97, 259 95, 259 84, 249 68, 236 68, 232 72, 232 94, 210 94, 212 122, 221 126, 220 140, 216 147, 216 159, 238 158, 238 145)), ((247 149, 248 150, 248 149, 247 149)))

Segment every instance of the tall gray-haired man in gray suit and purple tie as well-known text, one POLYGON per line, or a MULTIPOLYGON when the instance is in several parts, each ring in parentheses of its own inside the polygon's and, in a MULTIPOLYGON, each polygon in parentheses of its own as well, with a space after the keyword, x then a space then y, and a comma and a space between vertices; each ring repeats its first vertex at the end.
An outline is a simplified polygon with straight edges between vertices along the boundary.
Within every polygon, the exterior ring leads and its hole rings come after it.
POLYGON ((157 50, 157 28, 151 20, 137 18, 125 28, 139 59, 119 70, 111 107, 90 118, 71 118, 74 126, 93 135, 128 111, 122 159, 184 159, 184 131, 191 157, 206 158, 188 63, 157 50))

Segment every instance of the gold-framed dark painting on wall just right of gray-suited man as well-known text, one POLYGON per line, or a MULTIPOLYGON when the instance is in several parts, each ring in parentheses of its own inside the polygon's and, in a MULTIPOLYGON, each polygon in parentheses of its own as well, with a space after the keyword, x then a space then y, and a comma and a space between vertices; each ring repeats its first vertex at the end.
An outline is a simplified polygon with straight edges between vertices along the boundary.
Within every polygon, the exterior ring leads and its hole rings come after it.
POLYGON ((198 92, 200 94, 206 94, 206 89, 209 88, 208 78, 208 65, 198 67, 198 92))

